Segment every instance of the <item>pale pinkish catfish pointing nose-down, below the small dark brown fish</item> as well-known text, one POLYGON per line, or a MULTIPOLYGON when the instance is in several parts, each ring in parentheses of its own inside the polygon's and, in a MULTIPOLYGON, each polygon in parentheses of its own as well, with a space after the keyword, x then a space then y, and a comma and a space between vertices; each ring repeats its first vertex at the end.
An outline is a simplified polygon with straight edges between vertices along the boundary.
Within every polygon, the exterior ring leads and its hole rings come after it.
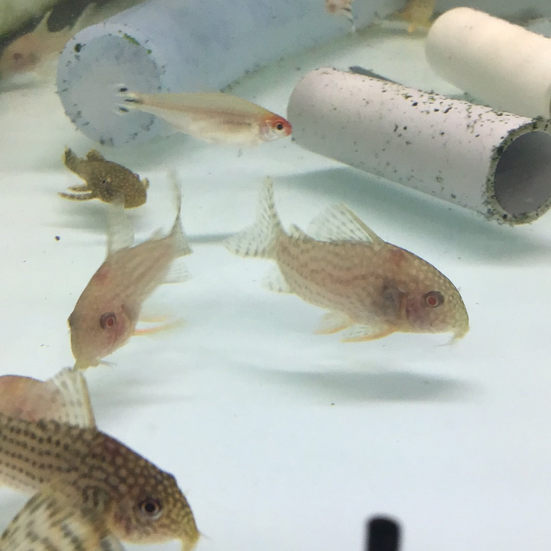
POLYGON ((112 238, 114 230, 110 230, 107 258, 82 291, 68 318, 75 368, 98 365, 102 358, 125 344, 136 333, 143 301, 166 280, 172 261, 191 253, 180 220, 179 189, 175 195, 176 220, 165 237, 154 235, 139 245, 118 248, 112 245, 117 240, 112 238))

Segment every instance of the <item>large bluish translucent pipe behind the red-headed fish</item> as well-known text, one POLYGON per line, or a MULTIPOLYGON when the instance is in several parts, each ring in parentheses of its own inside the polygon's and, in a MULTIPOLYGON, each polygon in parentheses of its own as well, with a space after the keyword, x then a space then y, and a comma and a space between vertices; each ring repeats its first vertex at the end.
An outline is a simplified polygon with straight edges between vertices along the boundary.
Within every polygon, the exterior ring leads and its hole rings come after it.
MULTIPOLYGON (((352 6, 358 28, 403 0, 352 6)), ((67 116, 104 144, 143 142, 171 132, 154 115, 117 114, 118 87, 213 91, 245 73, 350 32, 323 0, 149 0, 80 31, 67 42, 57 87, 67 116)))

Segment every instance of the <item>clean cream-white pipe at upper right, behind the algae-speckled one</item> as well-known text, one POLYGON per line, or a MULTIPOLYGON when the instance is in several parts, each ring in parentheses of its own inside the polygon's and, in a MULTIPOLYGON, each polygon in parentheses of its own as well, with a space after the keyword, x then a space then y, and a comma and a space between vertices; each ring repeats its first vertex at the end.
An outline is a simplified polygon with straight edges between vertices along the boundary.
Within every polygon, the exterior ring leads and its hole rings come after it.
POLYGON ((455 8, 434 21, 425 53, 437 74, 494 109, 551 116, 551 39, 455 8))

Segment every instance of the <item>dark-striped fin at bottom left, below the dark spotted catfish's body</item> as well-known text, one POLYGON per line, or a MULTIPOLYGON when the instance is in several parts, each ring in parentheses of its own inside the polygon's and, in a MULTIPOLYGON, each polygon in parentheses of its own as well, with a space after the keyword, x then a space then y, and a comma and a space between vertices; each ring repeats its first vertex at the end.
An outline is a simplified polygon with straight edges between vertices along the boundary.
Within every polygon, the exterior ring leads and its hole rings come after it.
POLYGON ((98 524, 60 495, 42 491, 19 511, 0 537, 2 551, 122 551, 98 524))

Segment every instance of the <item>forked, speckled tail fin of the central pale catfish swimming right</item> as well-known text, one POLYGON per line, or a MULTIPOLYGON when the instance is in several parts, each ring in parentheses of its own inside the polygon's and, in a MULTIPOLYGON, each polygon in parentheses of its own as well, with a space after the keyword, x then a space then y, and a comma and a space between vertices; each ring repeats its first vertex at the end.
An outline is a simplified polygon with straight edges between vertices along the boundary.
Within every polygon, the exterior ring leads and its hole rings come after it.
POLYGON ((273 258, 277 241, 284 233, 274 204, 273 182, 268 177, 258 197, 255 223, 226 239, 224 245, 234 255, 273 258))

